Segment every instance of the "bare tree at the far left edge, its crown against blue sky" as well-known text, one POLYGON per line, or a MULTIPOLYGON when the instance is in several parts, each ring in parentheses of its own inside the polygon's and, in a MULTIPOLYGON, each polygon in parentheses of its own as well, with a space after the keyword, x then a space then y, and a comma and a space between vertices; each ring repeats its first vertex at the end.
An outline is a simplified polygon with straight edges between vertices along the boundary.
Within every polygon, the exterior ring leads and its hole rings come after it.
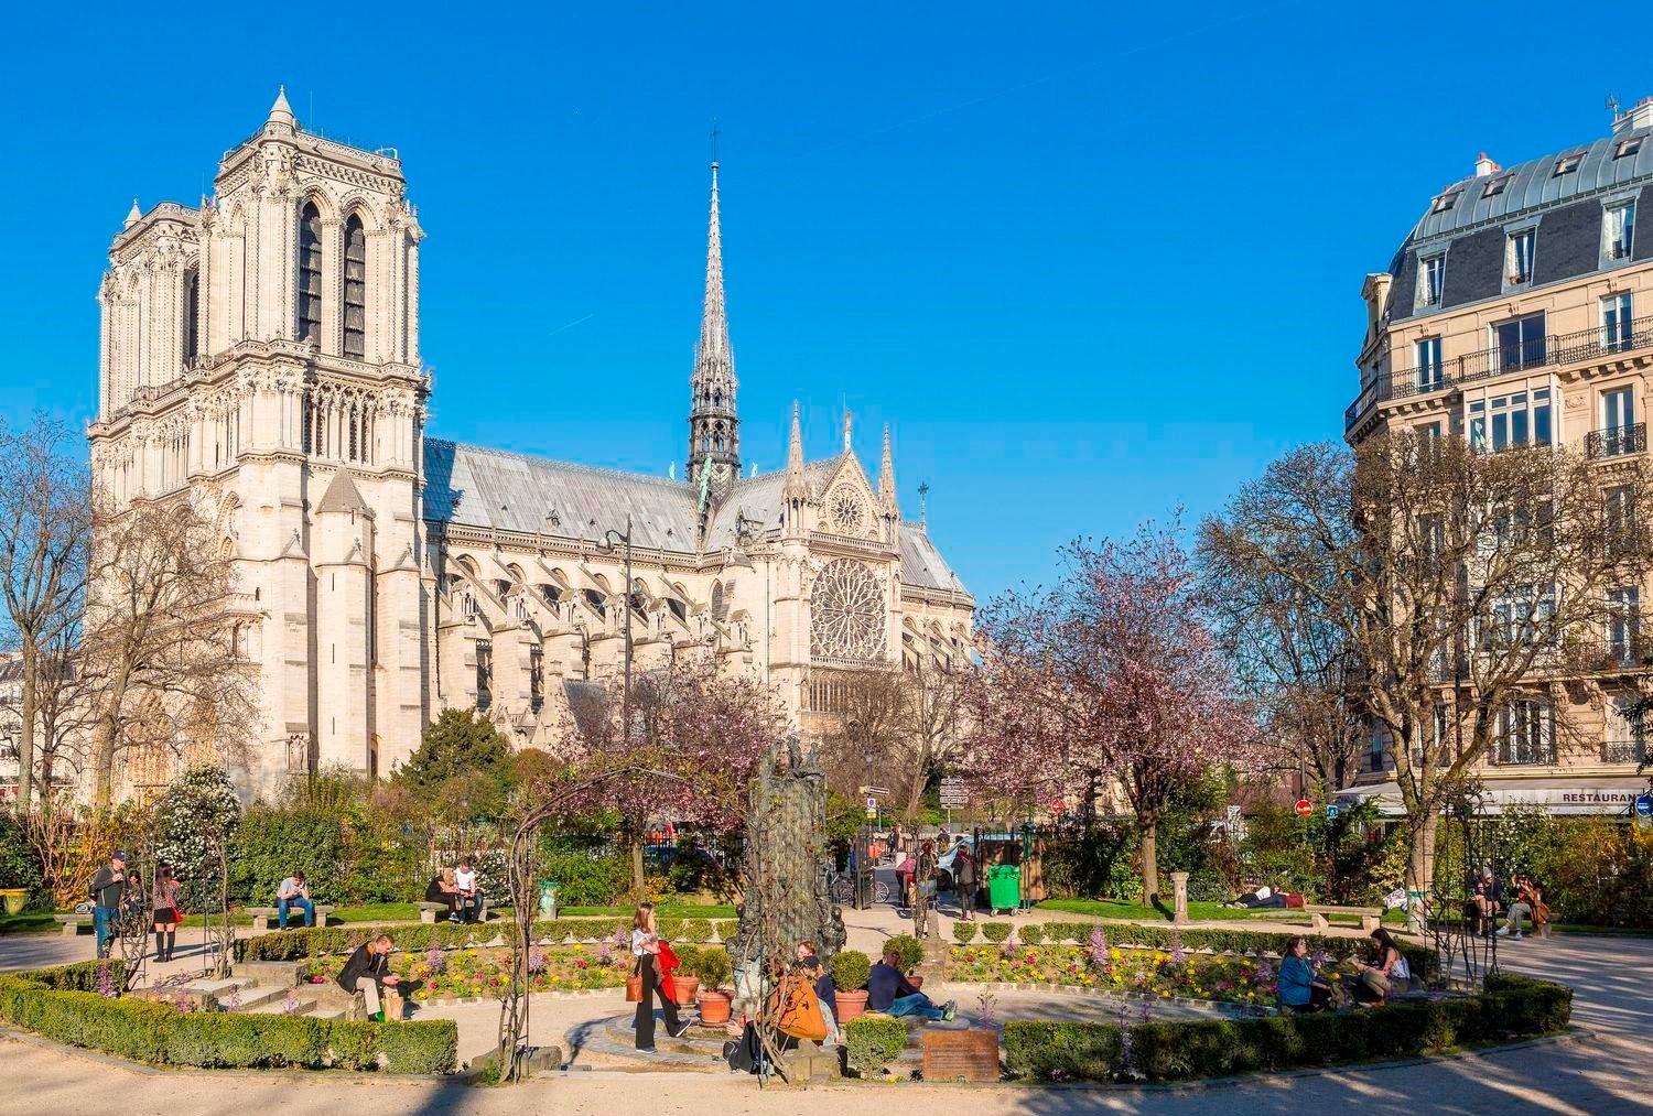
MULTIPOLYGON (((79 620, 86 587, 91 496, 69 428, 36 415, 26 430, 0 423, 0 590, 23 673, 18 810, 35 789, 36 729, 48 648, 79 620)), ((50 792, 50 785, 48 785, 50 792)))

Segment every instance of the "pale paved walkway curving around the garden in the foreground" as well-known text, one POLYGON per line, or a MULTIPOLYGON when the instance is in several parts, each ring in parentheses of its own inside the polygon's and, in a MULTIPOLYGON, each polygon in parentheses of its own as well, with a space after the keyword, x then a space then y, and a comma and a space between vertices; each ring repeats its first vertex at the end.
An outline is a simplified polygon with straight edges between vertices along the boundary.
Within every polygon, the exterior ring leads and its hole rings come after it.
MULTIPOLYGON (((881 918, 851 916, 855 944, 891 932, 881 918)), ((17 967, 23 954, 78 946, 89 939, 0 937, 0 967, 17 967), (55 944, 51 944, 55 942, 55 944)), ((71 957, 55 957, 71 959, 71 957)), ((998 1086, 969 1095, 972 1114, 1056 1116, 1058 1113, 1304 1113, 1357 1111, 1379 1116, 1413 1113, 1544 1113, 1547 1116, 1620 1116, 1653 1113, 1650 1035, 1653 1035, 1653 939, 1557 936, 1509 942, 1499 959, 1511 971, 1564 980, 1577 990, 1574 1020, 1593 1032, 1587 1040, 1541 1043, 1465 1058, 1357 1071, 1276 1076, 1227 1088, 1185 1090, 1033 1090, 998 1086)), ((38 964, 38 962, 35 962, 38 964)), ((570 1028, 597 1015, 613 1015, 605 997, 539 1000, 534 1037, 562 1042, 570 1028)), ((972 1004, 962 1007, 970 1009, 972 1004)), ((460 1009, 466 1045, 486 1038, 498 1022, 494 1005, 460 1009)), ((501 1113, 555 1108, 603 1116, 663 1116, 717 1111, 722 1116, 807 1108, 812 1116, 869 1113, 889 1106, 950 1109, 964 1104, 957 1086, 907 1085, 891 1090, 843 1085, 810 1093, 807 1104, 780 1090, 757 1090, 746 1076, 673 1073, 570 1071, 516 1090, 473 1090, 428 1081, 393 1081, 334 1075, 203 1075, 157 1073, 112 1065, 38 1045, 0 1040, 7 1078, 28 1088, 0 1091, 0 1116, 28 1113, 109 1113, 202 1116, 223 1111, 233 1091, 236 1108, 301 1104, 352 1116, 408 1113, 501 1113)))

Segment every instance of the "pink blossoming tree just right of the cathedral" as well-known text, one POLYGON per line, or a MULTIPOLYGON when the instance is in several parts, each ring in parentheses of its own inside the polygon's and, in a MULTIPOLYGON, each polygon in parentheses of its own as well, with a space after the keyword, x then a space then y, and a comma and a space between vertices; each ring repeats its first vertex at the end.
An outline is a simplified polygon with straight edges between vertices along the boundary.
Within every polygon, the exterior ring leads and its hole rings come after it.
POLYGON ((1177 524, 1127 541, 1076 539, 1050 589, 1012 590, 984 612, 970 684, 974 761, 1007 795, 1116 790, 1141 833, 1142 893, 1159 893, 1159 823, 1177 787, 1241 762, 1256 737, 1205 623, 1177 524))

